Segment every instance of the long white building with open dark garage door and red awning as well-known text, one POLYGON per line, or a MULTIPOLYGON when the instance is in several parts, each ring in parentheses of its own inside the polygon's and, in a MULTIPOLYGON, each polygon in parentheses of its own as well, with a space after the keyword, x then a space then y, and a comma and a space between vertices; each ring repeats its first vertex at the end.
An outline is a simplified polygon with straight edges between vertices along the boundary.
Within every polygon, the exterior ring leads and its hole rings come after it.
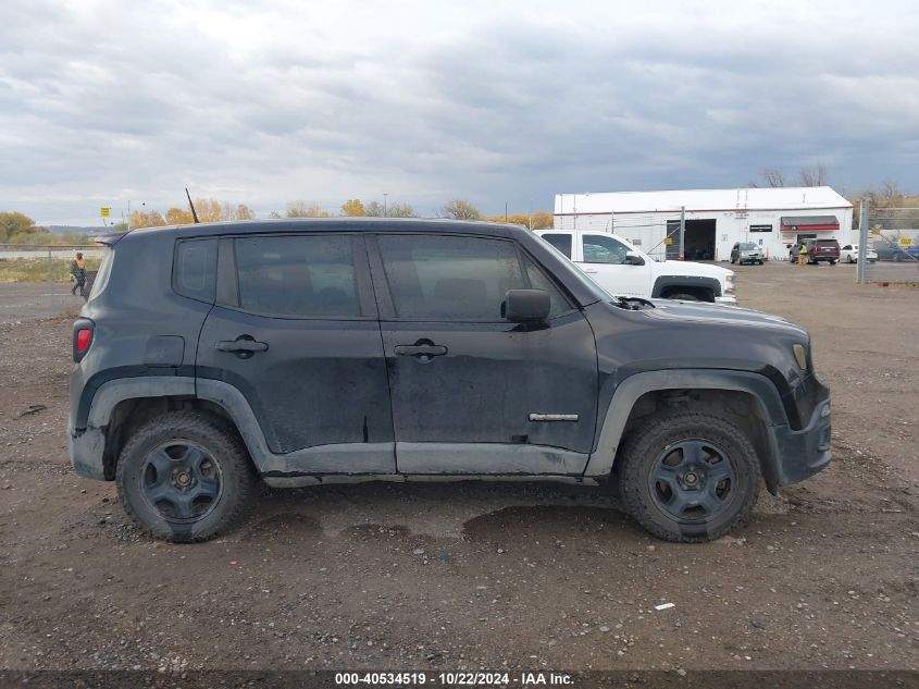
POLYGON ((829 186, 557 194, 554 226, 613 232, 656 258, 679 258, 681 208, 686 260, 730 260, 735 242, 787 260, 799 239, 858 241, 852 204, 829 186))

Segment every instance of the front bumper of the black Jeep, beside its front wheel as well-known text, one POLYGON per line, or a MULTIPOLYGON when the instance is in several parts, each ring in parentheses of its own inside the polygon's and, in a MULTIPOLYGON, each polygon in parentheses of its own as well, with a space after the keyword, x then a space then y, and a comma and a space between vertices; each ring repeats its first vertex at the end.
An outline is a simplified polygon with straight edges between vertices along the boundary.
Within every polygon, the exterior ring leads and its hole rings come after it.
POLYGON ((777 475, 770 482, 774 485, 797 483, 830 464, 831 426, 829 398, 815 407, 807 426, 799 431, 773 426, 777 475))

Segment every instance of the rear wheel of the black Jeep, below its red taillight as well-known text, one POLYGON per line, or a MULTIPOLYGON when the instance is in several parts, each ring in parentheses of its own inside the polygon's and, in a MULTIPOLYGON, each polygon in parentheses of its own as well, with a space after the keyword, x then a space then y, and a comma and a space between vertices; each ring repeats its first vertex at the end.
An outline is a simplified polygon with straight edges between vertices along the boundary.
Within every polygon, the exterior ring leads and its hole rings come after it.
POLYGON ((170 411, 132 434, 115 480, 138 527, 159 539, 193 542, 240 516, 254 471, 232 426, 200 411, 170 411))

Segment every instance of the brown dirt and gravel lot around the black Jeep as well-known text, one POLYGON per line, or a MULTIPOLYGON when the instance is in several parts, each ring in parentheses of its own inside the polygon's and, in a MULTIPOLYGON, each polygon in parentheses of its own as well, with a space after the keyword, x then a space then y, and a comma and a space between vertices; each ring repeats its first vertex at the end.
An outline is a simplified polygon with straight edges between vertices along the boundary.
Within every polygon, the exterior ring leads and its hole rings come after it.
POLYGON ((71 471, 71 319, 20 299, 0 323, 0 668, 919 668, 919 290, 738 273, 745 306, 810 329, 834 462, 704 545, 588 489, 475 483, 264 490, 220 540, 152 541, 71 471))

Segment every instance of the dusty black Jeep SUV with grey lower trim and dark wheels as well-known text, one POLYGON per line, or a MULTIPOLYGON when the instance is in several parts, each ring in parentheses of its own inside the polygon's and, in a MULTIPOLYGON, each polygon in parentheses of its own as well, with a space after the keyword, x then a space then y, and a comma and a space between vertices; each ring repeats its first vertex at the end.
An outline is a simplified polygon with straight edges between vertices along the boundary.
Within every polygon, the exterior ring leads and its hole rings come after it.
POLYGON ((207 539, 274 487, 604 484, 665 539, 718 538, 830 460, 807 333, 621 300, 477 222, 200 224, 105 241, 73 329, 70 451, 152 534, 207 539))

